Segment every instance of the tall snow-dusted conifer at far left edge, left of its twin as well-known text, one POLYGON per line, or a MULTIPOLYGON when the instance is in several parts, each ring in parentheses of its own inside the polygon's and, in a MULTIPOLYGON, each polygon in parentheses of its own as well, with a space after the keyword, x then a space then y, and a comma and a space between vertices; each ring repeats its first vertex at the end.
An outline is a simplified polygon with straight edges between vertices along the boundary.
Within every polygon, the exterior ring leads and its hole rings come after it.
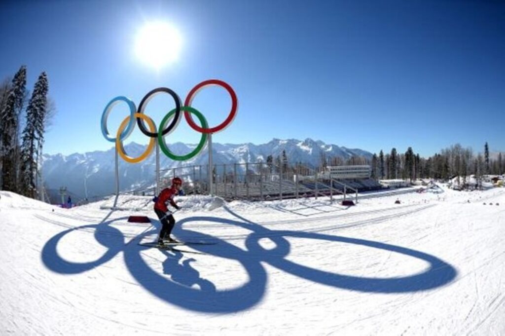
POLYGON ((23 107, 25 91, 26 66, 23 65, 14 76, 5 106, 0 111, 0 187, 16 192, 18 115, 23 107))

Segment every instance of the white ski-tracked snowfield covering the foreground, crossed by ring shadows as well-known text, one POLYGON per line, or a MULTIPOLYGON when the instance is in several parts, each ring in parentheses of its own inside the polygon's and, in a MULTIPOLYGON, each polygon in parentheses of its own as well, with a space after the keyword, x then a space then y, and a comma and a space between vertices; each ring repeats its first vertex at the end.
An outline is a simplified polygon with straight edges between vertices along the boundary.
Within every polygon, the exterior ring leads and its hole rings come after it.
POLYGON ((60 209, 0 192, 0 334, 505 334, 505 189, 60 209), (396 199, 401 204, 395 204, 396 199), (485 203, 485 205, 484 205, 485 203), (130 223, 145 215, 149 223, 130 223))

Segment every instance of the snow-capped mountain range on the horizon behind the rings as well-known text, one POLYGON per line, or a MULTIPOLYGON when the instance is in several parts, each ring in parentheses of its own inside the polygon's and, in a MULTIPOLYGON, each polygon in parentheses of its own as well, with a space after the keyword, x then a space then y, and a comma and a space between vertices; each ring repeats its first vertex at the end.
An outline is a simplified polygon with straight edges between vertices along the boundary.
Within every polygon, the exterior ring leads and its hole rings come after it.
MULTIPOLYGON (((176 142, 170 145, 170 150, 176 155, 191 152, 196 145, 176 142)), ((128 155, 136 157, 146 148, 131 142, 125 146, 128 155)), ((262 145, 241 143, 238 145, 218 142, 212 143, 214 164, 233 164, 245 162, 266 162, 267 157, 274 158, 286 151, 288 162, 293 164, 301 162, 308 167, 316 167, 325 153, 327 158, 363 156, 371 158, 372 154, 360 149, 348 149, 336 145, 328 145, 323 141, 311 138, 297 139, 272 139, 262 145)), ((59 189, 66 186, 67 190, 78 198, 110 195, 115 192, 115 148, 108 151, 95 151, 84 154, 44 155, 42 174, 48 189, 59 189)), ((167 169, 180 166, 207 165, 208 153, 204 149, 201 154, 184 162, 174 161, 160 153, 160 168, 167 169)), ((156 156, 150 155, 138 164, 130 164, 119 158, 120 190, 146 188, 153 185, 155 180, 156 156)), ((165 174, 170 172, 166 171, 165 174)), ((163 176, 163 172, 162 172, 163 176)))

